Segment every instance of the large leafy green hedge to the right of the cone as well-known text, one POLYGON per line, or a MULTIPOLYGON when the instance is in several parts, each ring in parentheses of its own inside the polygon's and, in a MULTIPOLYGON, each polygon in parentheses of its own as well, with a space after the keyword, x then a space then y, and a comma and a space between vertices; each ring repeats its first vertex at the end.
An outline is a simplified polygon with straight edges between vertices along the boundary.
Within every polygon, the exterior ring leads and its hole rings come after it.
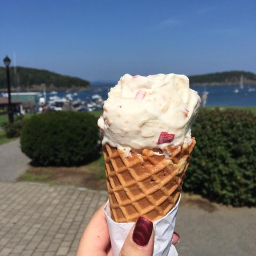
POLYGON ((256 118, 250 111, 201 109, 184 191, 233 206, 256 205, 256 118))

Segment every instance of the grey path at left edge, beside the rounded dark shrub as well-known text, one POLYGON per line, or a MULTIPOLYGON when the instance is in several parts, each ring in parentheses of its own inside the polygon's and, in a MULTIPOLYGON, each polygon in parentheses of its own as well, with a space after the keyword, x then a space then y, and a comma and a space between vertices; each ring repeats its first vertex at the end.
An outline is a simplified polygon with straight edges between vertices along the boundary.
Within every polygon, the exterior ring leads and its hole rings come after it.
POLYGON ((21 152, 19 139, 0 145, 0 181, 14 181, 26 172, 29 162, 21 152))

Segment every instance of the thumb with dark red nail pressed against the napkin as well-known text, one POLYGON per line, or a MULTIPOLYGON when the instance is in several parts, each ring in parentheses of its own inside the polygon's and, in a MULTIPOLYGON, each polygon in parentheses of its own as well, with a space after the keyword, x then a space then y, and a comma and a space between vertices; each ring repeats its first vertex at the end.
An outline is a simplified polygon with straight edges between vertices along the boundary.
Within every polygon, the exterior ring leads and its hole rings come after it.
POLYGON ((152 256, 154 237, 153 222, 140 217, 126 237, 119 256, 152 256))

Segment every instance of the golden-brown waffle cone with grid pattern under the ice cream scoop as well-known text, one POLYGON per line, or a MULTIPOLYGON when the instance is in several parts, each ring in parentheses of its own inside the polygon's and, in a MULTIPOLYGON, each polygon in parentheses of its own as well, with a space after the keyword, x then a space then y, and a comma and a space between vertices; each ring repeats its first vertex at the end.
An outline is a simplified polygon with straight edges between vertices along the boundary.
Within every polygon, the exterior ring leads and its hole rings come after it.
POLYGON ((146 148, 141 155, 125 157, 122 150, 104 145, 111 218, 134 222, 140 216, 151 221, 164 217, 179 199, 195 144, 193 138, 190 145, 167 148, 169 158, 146 148))

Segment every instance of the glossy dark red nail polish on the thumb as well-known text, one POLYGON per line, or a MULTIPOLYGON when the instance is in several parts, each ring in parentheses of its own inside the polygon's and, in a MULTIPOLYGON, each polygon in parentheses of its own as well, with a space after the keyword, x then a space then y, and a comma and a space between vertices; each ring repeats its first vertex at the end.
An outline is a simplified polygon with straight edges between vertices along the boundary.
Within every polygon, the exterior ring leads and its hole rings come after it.
POLYGON ((153 222, 147 220, 146 218, 140 217, 137 220, 133 230, 133 241, 140 246, 146 246, 152 234, 152 230, 153 222))

